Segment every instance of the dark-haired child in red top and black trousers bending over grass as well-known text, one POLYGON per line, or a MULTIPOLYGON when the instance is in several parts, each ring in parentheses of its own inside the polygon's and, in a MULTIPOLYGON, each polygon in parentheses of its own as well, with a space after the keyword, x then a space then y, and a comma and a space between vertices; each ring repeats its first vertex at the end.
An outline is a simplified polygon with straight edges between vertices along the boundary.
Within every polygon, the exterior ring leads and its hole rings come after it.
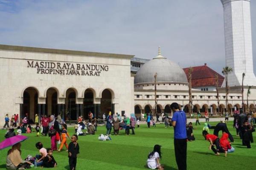
POLYGON ((220 145, 219 138, 215 135, 209 134, 206 130, 203 131, 203 136, 205 140, 210 142, 209 150, 212 150, 215 155, 220 155, 219 152, 224 153, 225 151, 220 145), (215 149, 216 146, 216 149, 215 149))

